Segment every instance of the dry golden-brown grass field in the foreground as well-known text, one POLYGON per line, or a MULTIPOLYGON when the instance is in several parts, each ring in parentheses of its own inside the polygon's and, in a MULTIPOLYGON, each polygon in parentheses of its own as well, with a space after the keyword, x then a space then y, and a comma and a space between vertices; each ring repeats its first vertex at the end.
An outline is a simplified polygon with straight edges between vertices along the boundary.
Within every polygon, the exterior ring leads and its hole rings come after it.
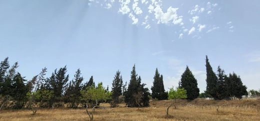
MULTIPOLYGON (((151 101, 148 108, 96 109, 94 121, 260 121, 260 100, 212 101, 196 99, 180 101, 176 109, 165 109, 170 101, 151 101), (216 111, 218 107, 218 111, 216 111)), ((90 110, 90 109, 89 109, 90 110)), ((91 111, 91 110, 90 110, 91 111)), ((87 121, 84 109, 38 109, 35 115, 29 110, 0 111, 0 121, 87 121)))

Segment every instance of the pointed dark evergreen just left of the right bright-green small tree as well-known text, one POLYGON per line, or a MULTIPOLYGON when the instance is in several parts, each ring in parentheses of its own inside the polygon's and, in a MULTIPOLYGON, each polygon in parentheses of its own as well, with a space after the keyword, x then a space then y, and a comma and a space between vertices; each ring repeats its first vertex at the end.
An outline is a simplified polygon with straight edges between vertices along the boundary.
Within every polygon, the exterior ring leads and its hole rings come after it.
POLYGON ((164 90, 163 77, 159 74, 158 69, 155 70, 153 77, 153 86, 151 87, 151 97, 158 100, 166 100, 167 93, 164 90))

